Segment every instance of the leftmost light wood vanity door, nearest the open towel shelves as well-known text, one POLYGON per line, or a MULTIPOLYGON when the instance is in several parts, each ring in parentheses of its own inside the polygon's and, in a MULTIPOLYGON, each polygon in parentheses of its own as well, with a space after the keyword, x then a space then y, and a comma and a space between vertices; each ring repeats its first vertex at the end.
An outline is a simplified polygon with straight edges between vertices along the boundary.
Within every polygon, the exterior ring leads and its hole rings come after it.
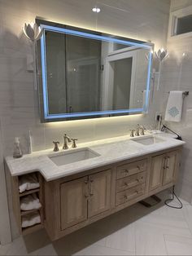
POLYGON ((60 185, 61 229, 72 227, 87 218, 88 177, 60 185))

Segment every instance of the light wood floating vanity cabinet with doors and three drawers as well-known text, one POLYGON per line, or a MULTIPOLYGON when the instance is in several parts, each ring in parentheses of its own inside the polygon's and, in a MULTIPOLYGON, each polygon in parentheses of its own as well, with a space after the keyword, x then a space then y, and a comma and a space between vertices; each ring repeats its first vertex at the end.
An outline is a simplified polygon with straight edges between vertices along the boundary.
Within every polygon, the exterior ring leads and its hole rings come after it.
POLYGON ((172 187, 177 181, 180 152, 181 147, 172 148, 50 182, 44 180, 43 225, 50 239, 57 240, 172 187))

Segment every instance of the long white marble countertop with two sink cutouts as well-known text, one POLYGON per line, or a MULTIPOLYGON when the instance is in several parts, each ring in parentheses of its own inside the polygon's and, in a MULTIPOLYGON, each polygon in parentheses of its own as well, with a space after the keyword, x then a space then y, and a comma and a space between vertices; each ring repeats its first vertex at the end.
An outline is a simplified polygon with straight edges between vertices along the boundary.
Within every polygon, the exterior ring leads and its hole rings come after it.
MULTIPOLYGON (((68 149, 67 151, 60 150, 59 152, 53 152, 53 149, 47 149, 33 152, 32 154, 26 154, 18 159, 6 157, 6 161, 12 176, 39 171, 46 181, 50 181, 99 166, 106 166, 117 161, 124 161, 133 157, 141 157, 152 152, 179 147, 185 143, 184 141, 174 139, 175 135, 171 134, 159 133, 157 135, 146 136, 155 136, 155 138, 163 139, 163 141, 151 145, 142 145, 131 139, 129 135, 126 135, 111 139, 100 139, 89 143, 79 143, 78 148, 68 149), (58 156, 81 148, 89 148, 97 152, 99 156, 63 166, 56 166, 55 163, 50 160, 52 156, 58 156)), ((145 138, 146 136, 139 138, 145 138)))

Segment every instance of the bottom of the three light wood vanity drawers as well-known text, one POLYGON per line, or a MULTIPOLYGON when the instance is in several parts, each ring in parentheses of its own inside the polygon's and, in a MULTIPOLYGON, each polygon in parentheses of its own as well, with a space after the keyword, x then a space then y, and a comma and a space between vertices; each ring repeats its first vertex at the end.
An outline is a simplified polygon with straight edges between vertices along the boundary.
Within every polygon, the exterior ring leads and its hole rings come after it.
POLYGON ((116 194, 116 205, 124 204, 138 196, 142 196, 145 192, 145 183, 138 185, 134 188, 129 188, 124 192, 119 192, 116 194))

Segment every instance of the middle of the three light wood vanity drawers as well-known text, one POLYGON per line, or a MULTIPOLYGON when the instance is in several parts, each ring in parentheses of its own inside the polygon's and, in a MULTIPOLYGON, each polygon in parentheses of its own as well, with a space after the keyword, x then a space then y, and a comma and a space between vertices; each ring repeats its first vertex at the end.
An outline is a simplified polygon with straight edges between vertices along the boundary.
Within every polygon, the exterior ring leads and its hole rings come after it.
POLYGON ((122 192, 146 182, 146 172, 134 174, 116 181, 116 192, 122 192))

